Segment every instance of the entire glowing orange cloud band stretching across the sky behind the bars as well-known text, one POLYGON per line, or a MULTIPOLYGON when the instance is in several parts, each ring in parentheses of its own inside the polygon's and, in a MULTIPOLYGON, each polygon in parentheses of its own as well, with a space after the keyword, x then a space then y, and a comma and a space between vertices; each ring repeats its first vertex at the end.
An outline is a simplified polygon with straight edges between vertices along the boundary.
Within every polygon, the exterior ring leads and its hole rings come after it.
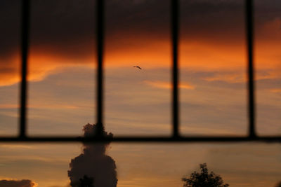
MULTIPOLYGON (((261 29, 261 34, 255 42, 255 67, 256 70, 273 69, 275 76, 280 77, 280 24, 276 19, 268 22, 261 29), (275 33, 275 34, 274 34, 275 33), (277 33, 277 34, 276 34, 277 33), (271 36, 270 34, 273 34, 271 36), (262 35, 262 36, 260 36, 262 35), (268 36, 268 38, 266 38, 268 36), (274 40, 274 39, 275 40, 274 40)), ((146 69, 171 68, 171 40, 169 36, 148 38, 145 34, 139 37, 122 34, 117 39, 106 41, 105 45, 105 68, 128 67, 140 64, 146 69)), ((222 39, 221 41, 202 41, 185 37, 181 38, 179 46, 179 65, 182 69, 192 71, 241 71, 247 69, 247 50, 245 41, 235 39, 222 39)), ((49 46, 32 46, 29 60, 29 81, 41 81, 50 74, 63 71, 65 67, 96 67, 96 58, 93 50, 77 51, 77 54, 67 55, 56 52, 49 46)), ((89 46, 92 48, 92 46, 89 46)), ((73 53, 73 52, 72 52, 73 53)), ((207 81, 226 80, 230 83, 241 82, 244 75, 216 75, 206 78, 207 81)), ((0 60, 0 86, 13 85, 20 81, 20 57, 15 55, 10 60, 0 60)))

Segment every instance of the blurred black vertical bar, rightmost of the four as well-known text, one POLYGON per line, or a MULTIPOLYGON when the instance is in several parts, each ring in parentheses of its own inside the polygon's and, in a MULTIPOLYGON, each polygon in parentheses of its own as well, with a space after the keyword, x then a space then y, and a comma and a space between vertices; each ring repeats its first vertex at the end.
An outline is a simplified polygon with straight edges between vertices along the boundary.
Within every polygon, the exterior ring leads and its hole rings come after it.
POLYGON ((255 137, 255 101, 254 101, 254 8, 252 0, 245 0, 247 57, 248 57, 248 99, 249 99, 249 137, 255 137))

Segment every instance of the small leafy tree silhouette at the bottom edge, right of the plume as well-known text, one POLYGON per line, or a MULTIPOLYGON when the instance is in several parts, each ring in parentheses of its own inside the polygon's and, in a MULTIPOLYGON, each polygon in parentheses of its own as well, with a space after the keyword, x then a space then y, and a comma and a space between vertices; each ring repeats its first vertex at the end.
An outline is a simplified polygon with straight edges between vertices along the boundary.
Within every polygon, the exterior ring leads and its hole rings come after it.
POLYGON ((207 164, 200 164, 201 172, 193 172, 190 174, 190 178, 183 178, 183 187, 227 187, 228 183, 223 184, 221 176, 214 174, 214 172, 208 173, 207 164))

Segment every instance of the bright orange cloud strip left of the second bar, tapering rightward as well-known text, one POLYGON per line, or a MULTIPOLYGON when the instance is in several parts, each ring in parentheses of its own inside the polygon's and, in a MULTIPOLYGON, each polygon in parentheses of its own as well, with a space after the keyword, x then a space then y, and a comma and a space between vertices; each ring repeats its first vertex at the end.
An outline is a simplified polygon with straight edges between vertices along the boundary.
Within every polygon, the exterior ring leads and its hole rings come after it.
MULTIPOLYGON (((28 81, 42 81, 50 74, 63 71, 66 67, 95 67, 93 57, 85 57, 84 59, 72 59, 68 57, 54 56, 52 54, 32 54, 28 64, 28 81)), ((5 61, 0 60, 0 86, 13 85, 18 83, 20 78, 20 57, 15 57, 5 61)))

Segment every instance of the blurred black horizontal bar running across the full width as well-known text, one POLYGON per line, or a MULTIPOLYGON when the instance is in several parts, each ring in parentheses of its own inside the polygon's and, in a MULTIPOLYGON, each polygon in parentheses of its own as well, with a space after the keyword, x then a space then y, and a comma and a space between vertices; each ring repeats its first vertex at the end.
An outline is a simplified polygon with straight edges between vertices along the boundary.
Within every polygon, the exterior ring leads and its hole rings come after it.
POLYGON ((260 141, 268 143, 281 143, 281 136, 264 137, 0 137, 0 142, 247 142, 260 141))

